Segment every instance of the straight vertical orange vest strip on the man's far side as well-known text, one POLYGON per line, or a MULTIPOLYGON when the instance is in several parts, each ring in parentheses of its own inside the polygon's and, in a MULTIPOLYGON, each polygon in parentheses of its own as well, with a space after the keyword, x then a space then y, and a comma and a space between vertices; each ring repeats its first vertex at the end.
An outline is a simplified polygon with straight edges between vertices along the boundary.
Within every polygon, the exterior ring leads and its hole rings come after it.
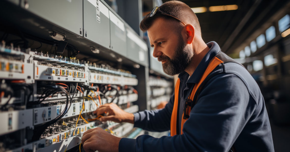
POLYGON ((173 110, 171 113, 171 121, 170 121, 170 135, 174 136, 177 134, 176 132, 176 121, 177 121, 177 109, 178 109, 178 98, 179 98, 179 85, 180 80, 177 79, 175 84, 175 91, 174 91, 174 105, 173 110))

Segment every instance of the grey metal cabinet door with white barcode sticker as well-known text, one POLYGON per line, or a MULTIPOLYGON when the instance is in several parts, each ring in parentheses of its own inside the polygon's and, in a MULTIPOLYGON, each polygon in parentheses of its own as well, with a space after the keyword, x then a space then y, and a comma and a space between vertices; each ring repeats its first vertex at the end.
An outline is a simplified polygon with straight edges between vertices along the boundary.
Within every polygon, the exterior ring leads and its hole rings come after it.
POLYGON ((109 9, 101 1, 84 0, 84 38, 110 49, 109 9))

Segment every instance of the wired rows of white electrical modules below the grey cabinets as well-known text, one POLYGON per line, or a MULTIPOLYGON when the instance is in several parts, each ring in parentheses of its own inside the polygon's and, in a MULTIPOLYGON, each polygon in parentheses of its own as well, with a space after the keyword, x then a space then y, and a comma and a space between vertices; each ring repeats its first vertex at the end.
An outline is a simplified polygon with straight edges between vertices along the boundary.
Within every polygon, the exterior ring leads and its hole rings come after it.
POLYGON ((144 134, 133 124, 102 123, 92 114, 111 102, 127 112, 138 111, 133 88, 138 80, 129 71, 22 52, 2 41, 0 73, 0 151, 70 151, 80 144, 86 130, 95 127, 119 137, 144 134))

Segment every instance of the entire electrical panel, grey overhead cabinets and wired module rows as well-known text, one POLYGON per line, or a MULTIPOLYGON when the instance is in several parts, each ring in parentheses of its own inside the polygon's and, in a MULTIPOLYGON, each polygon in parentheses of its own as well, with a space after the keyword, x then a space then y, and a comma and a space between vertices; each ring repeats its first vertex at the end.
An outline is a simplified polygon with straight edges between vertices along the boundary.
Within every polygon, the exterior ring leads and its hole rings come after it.
POLYGON ((0 151, 73 152, 96 127, 126 138, 146 133, 93 114, 107 103, 135 113, 168 98, 161 86, 147 89, 148 46, 106 2, 4 0, 0 7, 0 151))

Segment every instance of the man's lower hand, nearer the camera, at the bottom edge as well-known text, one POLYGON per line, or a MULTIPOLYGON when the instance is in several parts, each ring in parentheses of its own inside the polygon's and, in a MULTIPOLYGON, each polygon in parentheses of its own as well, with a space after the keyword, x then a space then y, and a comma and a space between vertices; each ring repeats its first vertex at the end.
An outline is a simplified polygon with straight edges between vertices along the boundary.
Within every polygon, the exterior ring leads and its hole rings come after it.
POLYGON ((117 152, 119 151, 120 140, 121 138, 113 136, 102 128, 97 127, 86 131, 81 139, 81 143, 86 152, 95 152, 96 150, 117 152))

